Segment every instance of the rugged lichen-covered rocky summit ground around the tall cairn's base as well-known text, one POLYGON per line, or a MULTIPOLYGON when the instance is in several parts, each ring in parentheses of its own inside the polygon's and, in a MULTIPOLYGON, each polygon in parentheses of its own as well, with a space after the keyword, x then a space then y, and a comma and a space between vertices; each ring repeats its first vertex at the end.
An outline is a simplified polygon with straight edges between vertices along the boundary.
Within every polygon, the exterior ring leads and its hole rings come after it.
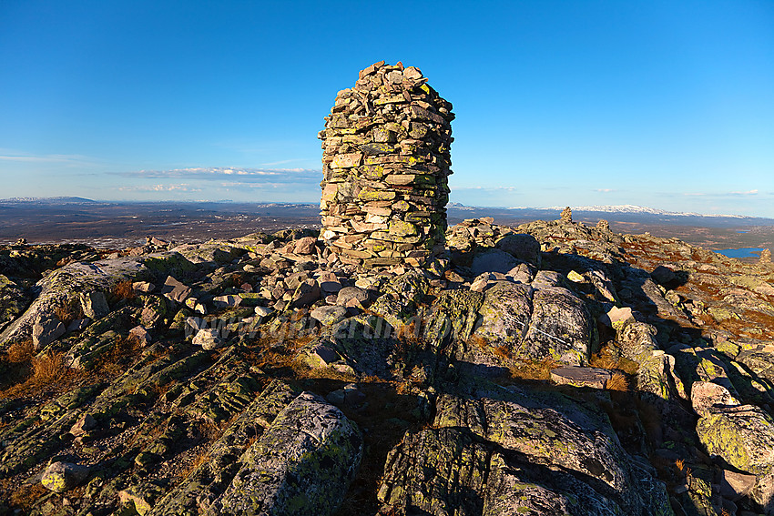
POLYGON ((570 217, 0 249, 0 514, 774 513, 774 266, 570 217))

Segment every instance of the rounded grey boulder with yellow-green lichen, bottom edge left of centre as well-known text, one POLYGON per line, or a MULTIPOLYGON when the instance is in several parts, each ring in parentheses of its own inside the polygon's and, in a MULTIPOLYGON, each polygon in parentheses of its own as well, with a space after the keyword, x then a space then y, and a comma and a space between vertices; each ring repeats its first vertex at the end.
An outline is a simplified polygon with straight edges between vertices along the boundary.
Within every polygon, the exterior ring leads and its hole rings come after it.
POLYGON ((355 424, 321 397, 301 393, 245 451, 239 471, 208 513, 332 514, 361 458, 355 424))

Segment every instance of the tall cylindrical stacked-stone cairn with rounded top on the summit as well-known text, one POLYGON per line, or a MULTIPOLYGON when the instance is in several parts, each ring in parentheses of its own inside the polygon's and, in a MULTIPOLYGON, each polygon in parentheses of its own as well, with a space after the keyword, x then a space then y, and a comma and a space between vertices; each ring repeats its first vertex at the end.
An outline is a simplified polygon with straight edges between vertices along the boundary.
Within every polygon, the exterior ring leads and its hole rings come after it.
POLYGON ((413 66, 360 73, 325 117, 321 238, 344 263, 422 266, 444 249, 451 103, 413 66))

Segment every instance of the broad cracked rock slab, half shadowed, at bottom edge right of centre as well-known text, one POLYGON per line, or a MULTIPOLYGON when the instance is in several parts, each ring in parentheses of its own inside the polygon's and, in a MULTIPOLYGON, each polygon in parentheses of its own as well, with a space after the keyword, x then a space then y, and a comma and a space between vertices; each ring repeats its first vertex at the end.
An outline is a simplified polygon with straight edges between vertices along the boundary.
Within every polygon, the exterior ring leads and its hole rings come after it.
POLYGON ((604 415, 496 392, 439 398, 433 429, 408 432, 387 458, 382 513, 672 514, 664 485, 627 459, 604 415))

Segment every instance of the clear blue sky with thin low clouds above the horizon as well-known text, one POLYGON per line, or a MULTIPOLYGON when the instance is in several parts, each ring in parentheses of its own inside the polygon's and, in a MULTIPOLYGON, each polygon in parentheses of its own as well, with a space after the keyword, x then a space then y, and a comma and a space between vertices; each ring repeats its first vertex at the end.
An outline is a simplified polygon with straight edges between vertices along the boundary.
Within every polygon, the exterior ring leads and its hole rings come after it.
POLYGON ((453 103, 452 201, 774 218, 768 0, 0 0, 0 197, 315 202, 382 59, 453 103))

